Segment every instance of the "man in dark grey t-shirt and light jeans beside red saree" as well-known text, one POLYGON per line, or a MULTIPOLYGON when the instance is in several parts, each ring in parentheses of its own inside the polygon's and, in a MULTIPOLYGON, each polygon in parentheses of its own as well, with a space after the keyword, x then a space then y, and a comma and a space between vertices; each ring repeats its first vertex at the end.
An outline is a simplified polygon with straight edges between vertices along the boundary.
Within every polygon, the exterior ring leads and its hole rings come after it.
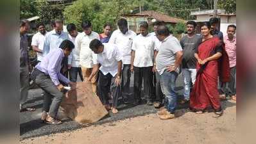
POLYGON ((196 81, 196 58, 194 58, 194 52, 198 49, 198 45, 201 43, 201 36, 195 34, 196 22, 187 22, 187 35, 182 37, 180 45, 183 49, 182 59, 182 76, 184 81, 184 99, 181 104, 189 102, 191 80, 192 84, 196 81))

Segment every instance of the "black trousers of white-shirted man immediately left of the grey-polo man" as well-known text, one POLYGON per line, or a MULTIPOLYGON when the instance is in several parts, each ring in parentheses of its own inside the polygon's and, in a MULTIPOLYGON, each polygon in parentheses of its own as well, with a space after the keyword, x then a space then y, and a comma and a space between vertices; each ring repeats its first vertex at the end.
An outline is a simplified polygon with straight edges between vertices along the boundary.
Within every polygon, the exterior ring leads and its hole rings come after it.
POLYGON ((146 100, 152 100, 152 88, 153 88, 153 67, 134 67, 134 85, 133 85, 133 97, 134 100, 141 99, 142 79, 144 81, 144 97, 146 100))

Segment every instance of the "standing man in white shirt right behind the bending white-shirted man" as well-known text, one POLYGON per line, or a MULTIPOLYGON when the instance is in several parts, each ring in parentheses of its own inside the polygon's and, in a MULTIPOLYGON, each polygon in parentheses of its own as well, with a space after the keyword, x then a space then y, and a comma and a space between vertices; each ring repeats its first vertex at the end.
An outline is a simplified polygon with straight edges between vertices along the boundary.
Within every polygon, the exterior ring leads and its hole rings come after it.
POLYGON ((131 52, 132 41, 136 33, 128 29, 128 22, 126 19, 119 19, 117 21, 118 28, 112 33, 109 43, 116 44, 123 54, 123 71, 122 71, 122 96, 123 102, 128 103, 128 95, 130 95, 130 77, 131 77, 131 52))

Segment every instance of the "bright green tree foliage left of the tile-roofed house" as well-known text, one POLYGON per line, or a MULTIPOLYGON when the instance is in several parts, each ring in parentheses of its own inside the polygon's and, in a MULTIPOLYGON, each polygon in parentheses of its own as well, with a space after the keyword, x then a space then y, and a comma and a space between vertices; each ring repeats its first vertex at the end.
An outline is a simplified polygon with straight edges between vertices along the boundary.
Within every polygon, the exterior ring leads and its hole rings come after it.
POLYGON ((130 12, 134 1, 78 0, 64 10, 66 23, 73 22, 81 31, 81 22, 90 20, 93 31, 101 33, 106 22, 113 26, 120 15, 130 12), (132 2, 132 3, 131 3, 132 2))

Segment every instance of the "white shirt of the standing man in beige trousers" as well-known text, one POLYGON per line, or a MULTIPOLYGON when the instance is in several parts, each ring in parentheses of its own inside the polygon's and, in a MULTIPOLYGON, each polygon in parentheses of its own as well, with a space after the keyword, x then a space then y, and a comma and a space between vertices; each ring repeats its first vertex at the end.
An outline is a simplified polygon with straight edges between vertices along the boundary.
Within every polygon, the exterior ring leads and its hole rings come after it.
POLYGON ((99 34, 92 31, 90 35, 86 35, 84 32, 76 36, 75 47, 78 49, 80 54, 80 65, 81 67, 92 68, 92 50, 89 45, 94 39, 99 40, 99 34))

